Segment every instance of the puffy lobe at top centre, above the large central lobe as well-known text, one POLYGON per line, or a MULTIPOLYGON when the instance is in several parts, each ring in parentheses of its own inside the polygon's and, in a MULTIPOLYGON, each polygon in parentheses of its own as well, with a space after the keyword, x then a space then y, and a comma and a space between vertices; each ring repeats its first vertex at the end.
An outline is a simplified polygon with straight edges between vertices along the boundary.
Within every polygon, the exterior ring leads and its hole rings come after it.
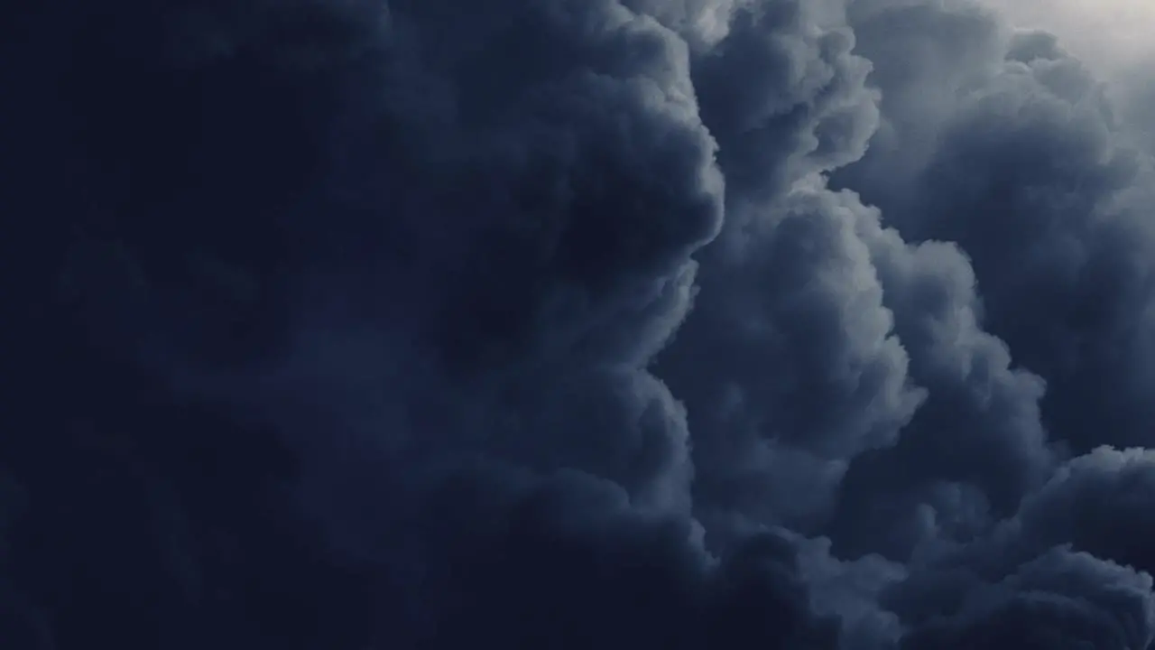
MULTIPOLYGON (((870 64, 829 2, 755 2, 695 59, 702 118, 722 145, 731 221, 814 170, 862 155, 878 119, 870 64), (736 74, 742 71, 740 74, 736 74)), ((757 208, 755 208, 757 210, 757 208)))

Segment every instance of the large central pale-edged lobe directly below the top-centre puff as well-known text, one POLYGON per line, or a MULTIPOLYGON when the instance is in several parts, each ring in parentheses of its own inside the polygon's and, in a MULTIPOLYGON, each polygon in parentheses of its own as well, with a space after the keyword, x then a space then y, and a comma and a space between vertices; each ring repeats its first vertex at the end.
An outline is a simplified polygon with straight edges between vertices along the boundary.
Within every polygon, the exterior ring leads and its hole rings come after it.
POLYGON ((829 504, 810 498, 830 498, 850 458, 893 444, 925 393, 907 382, 859 213, 799 186, 760 216, 706 267, 658 372, 702 431, 703 503, 813 524, 829 504))

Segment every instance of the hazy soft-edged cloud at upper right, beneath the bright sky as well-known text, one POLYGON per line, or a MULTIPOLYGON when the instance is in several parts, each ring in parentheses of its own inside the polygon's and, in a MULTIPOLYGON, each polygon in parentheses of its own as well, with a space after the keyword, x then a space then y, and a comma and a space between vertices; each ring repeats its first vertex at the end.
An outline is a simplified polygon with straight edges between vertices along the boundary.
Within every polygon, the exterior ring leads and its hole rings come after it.
POLYGON ((882 106, 893 136, 840 182, 906 236, 967 251, 992 332, 1048 381, 1057 438, 1080 451, 1145 443, 1152 234, 1138 189, 1152 165, 1102 84, 1055 37, 962 5, 881 10, 857 34, 894 98, 882 106), (895 36, 895 21, 921 29, 895 36), (897 54, 911 47, 927 56, 897 54), (921 110, 906 101, 916 93, 949 99, 921 110))

